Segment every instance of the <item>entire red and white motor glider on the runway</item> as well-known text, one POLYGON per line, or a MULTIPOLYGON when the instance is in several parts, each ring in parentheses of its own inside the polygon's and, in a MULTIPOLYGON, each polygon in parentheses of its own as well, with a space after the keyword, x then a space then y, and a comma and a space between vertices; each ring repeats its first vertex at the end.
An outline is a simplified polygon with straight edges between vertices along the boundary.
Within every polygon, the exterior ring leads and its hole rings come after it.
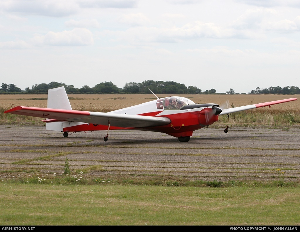
MULTIPOLYGON (((154 94, 155 95, 155 94, 154 94)), ((156 95, 155 95, 156 96, 156 95)), ((270 101, 247 106, 221 109, 218 104, 195 104, 185 97, 164 97, 108 113, 72 110, 64 87, 48 90, 47 108, 17 106, 4 113, 45 118, 46 129, 63 132, 67 137, 79 131, 143 130, 157 131, 187 142, 193 131, 208 127, 219 115, 266 107, 297 98, 270 101)), ((227 133, 228 124, 224 132, 227 133)))

